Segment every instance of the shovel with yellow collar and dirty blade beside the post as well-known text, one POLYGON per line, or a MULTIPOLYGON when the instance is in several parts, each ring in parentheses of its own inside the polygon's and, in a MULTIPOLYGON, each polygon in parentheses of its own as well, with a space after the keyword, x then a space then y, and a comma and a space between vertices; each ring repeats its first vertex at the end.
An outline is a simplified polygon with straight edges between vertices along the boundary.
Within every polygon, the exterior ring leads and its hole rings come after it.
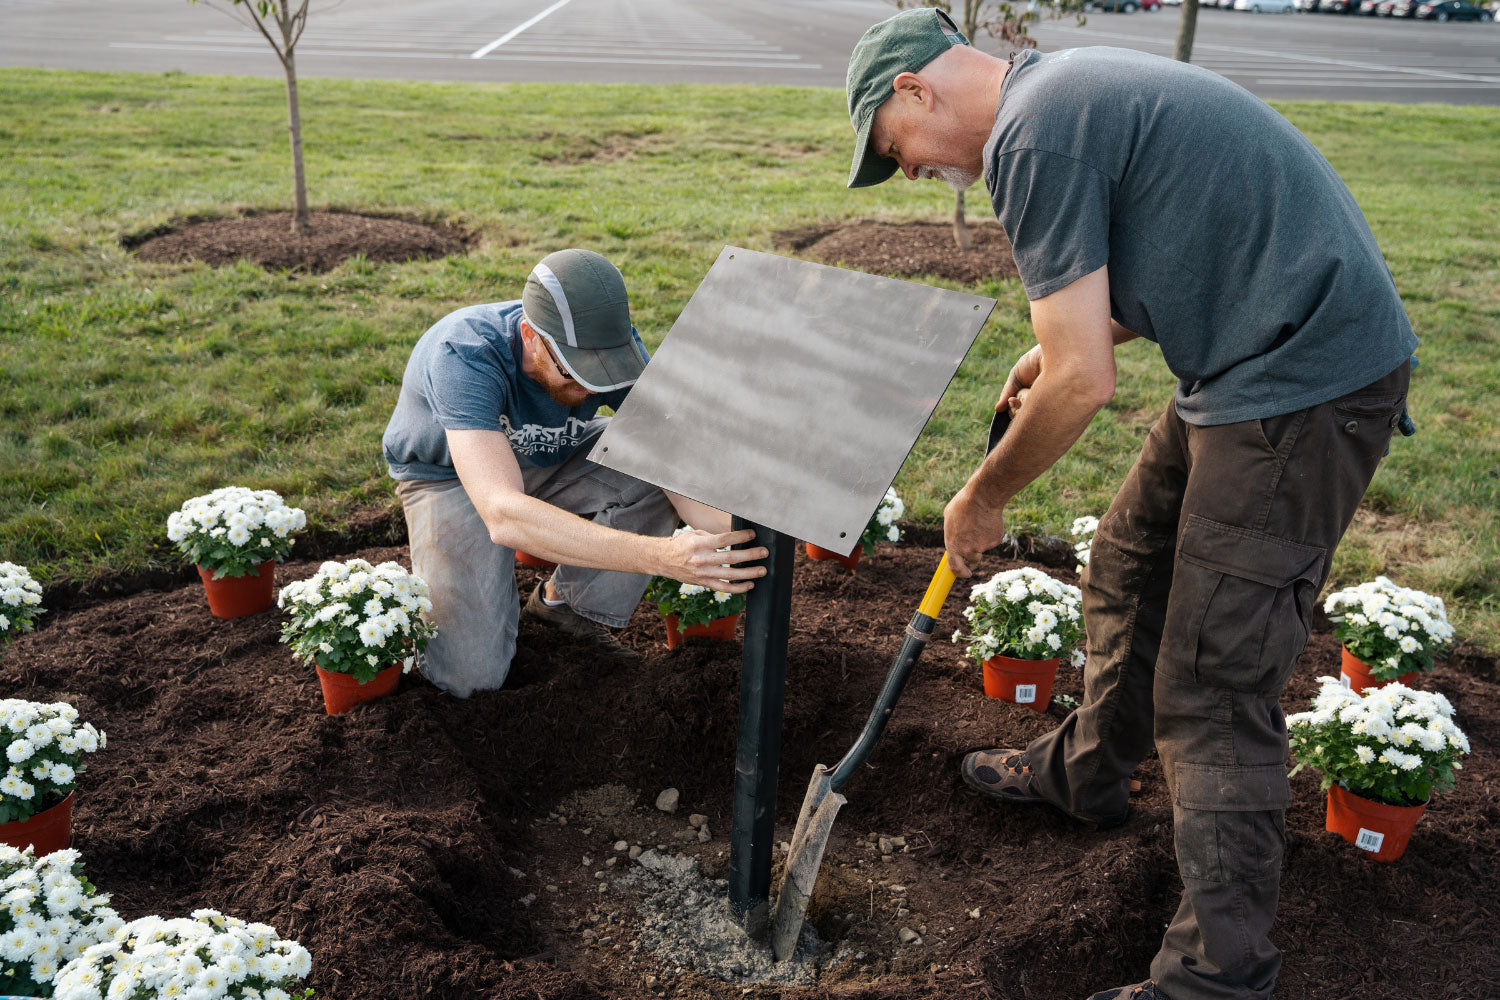
MULTIPOLYGON (((1026 390, 1022 391, 1022 396, 1026 390)), ((990 420, 986 454, 999 444, 1010 424, 1011 412, 1008 409, 996 411, 990 420)), ((802 810, 796 816, 796 831, 792 834, 790 850, 786 855, 786 873, 782 876, 782 889, 777 892, 776 913, 771 918, 771 949, 776 952, 777 961, 784 961, 796 951, 796 939, 802 933, 807 903, 818 885, 818 868, 824 862, 828 835, 832 832, 838 810, 849 801, 842 795, 842 790, 880 741, 885 723, 896 711, 896 702, 902 697, 902 690, 906 688, 912 667, 916 666, 916 657, 922 654, 927 640, 932 639, 933 625, 938 624, 938 615, 942 612, 944 601, 948 600, 952 583, 954 576, 952 570, 948 568, 948 553, 945 552, 938 562, 932 583, 927 585, 922 603, 906 627, 906 639, 902 642, 900 652, 896 654, 896 661, 891 663, 891 670, 885 675, 880 696, 874 700, 874 708, 870 709, 870 718, 866 720, 860 739, 831 769, 824 765, 813 768, 813 780, 807 784, 802 810)))

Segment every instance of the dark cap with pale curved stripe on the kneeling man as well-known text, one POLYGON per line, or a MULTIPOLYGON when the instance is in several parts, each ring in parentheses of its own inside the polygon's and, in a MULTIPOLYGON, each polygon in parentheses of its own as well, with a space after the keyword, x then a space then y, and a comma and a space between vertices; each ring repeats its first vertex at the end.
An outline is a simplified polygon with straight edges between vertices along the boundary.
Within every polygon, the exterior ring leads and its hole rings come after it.
POLYGON ((626 279, 592 250, 542 258, 526 277, 520 315, 590 391, 633 385, 646 367, 645 345, 630 325, 626 279))

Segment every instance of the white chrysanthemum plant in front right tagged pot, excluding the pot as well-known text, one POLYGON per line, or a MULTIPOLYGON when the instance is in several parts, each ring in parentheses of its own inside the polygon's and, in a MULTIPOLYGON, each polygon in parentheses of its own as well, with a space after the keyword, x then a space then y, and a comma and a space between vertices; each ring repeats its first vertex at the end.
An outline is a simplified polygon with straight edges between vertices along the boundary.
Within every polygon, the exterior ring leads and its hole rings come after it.
POLYGON ((1298 774, 1323 772, 1334 784, 1384 805, 1422 805, 1454 787, 1468 738, 1454 724, 1454 706, 1432 691, 1388 684, 1350 691, 1336 678, 1318 678, 1312 709, 1287 717, 1298 774))

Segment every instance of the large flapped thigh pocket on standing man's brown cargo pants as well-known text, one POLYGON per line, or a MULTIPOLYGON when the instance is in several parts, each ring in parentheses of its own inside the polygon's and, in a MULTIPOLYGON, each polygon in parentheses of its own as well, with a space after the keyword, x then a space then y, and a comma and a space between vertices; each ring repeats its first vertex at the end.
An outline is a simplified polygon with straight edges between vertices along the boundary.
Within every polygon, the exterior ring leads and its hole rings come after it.
POLYGON ((1308 639, 1324 552, 1190 514, 1178 541, 1158 670, 1276 694, 1308 639))

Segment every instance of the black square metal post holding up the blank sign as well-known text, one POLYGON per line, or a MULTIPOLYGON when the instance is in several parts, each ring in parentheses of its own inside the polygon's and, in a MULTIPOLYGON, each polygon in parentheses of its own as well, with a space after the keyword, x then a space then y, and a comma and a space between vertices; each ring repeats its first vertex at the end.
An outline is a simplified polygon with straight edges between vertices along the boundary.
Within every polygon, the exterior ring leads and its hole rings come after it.
POLYGON ((735 751, 734 826, 729 832, 729 904, 746 933, 770 925, 771 846, 776 843, 776 778, 782 765, 786 640, 792 622, 792 555, 796 540, 762 525, 752 546, 765 546, 766 574, 746 595, 740 667, 740 747, 735 751))

